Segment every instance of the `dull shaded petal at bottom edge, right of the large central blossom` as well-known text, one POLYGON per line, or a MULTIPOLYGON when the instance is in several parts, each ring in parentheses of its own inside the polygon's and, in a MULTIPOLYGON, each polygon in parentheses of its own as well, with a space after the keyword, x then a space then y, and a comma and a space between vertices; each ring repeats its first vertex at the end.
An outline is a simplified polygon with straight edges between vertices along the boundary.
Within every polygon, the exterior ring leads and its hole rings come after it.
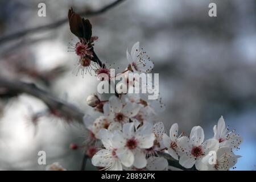
POLYGON ((150 171, 163 171, 168 167, 168 161, 164 158, 152 156, 147 159, 146 168, 150 171))

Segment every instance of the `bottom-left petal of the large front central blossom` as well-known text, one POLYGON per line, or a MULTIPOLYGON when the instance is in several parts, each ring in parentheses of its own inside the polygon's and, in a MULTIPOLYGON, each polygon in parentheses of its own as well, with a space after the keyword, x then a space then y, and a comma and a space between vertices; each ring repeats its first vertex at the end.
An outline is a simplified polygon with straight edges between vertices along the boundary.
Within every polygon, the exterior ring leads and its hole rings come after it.
POLYGON ((127 148, 118 148, 115 152, 125 167, 131 167, 134 163, 134 154, 127 148))

